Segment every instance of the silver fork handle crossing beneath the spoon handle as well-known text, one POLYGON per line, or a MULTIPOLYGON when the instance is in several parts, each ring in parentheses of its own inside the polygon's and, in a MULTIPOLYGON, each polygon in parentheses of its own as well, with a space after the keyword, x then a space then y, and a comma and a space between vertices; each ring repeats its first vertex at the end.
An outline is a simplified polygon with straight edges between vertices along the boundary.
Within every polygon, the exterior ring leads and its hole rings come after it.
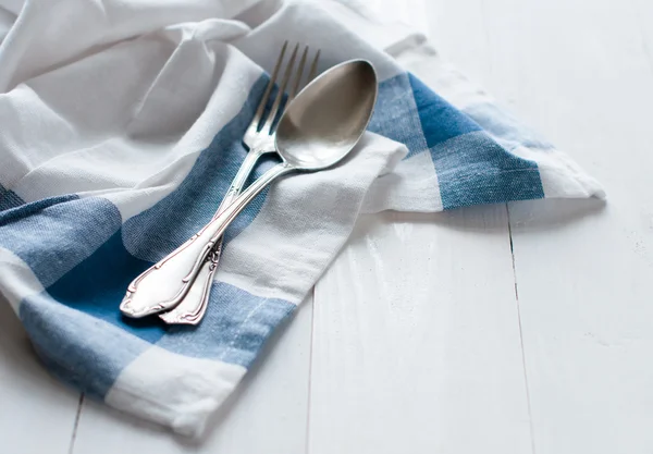
MULTIPOLYGON (((238 194, 241 194, 256 162, 266 152, 269 151, 258 147, 249 150, 231 186, 226 191, 226 195, 222 199, 220 207, 218 207, 213 219, 215 219, 224 208, 229 207, 238 194)), ((161 320, 169 324, 198 324, 201 321, 207 310, 211 284, 213 282, 215 270, 218 269, 218 261, 220 260, 221 254, 222 236, 218 240, 213 249, 201 263, 197 278, 190 283, 190 289, 186 296, 184 296, 184 299, 168 312, 159 314, 161 320)))

